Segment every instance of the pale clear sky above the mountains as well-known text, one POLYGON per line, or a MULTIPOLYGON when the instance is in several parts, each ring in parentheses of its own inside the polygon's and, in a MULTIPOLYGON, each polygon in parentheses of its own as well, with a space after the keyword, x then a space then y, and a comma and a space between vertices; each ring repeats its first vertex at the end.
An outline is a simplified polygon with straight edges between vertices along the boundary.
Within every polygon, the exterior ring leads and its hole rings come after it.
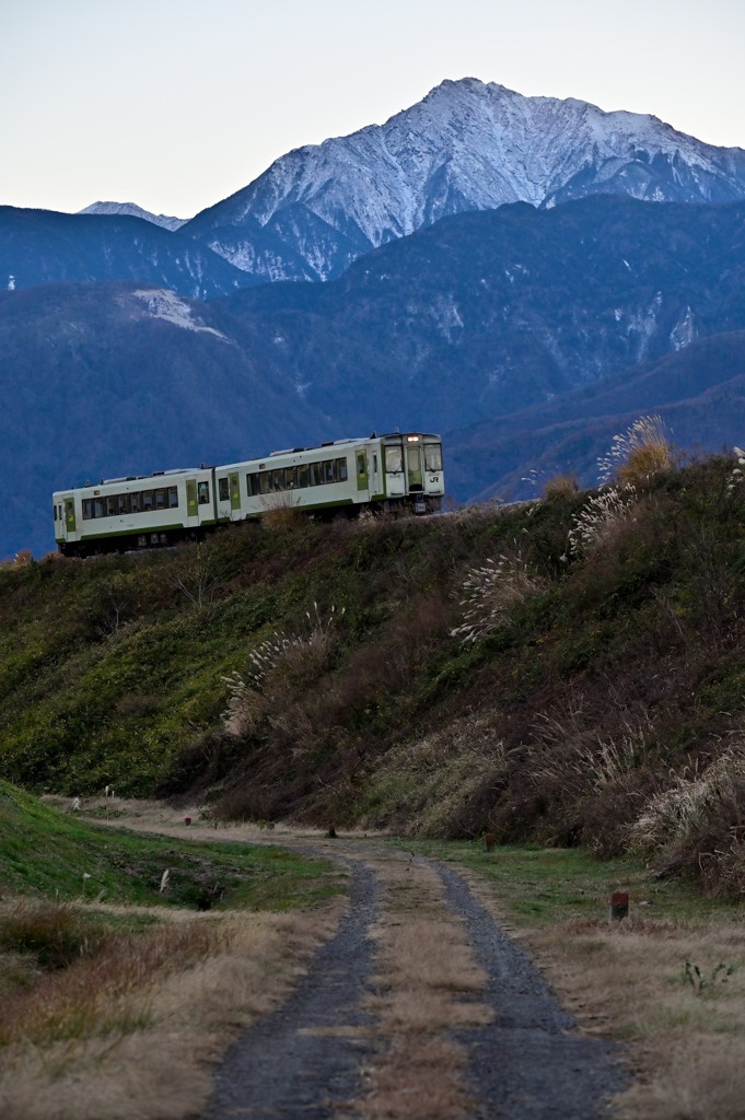
POLYGON ((0 204, 190 217, 445 78, 745 148, 745 0, 8 0, 0 204))

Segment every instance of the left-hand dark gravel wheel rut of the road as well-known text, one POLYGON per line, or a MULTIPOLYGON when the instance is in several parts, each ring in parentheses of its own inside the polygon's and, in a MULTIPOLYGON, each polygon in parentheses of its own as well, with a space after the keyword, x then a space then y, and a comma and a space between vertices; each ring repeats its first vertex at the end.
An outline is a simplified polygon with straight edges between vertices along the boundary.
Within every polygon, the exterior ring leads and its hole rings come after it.
POLYGON ((289 1000, 230 1047, 204 1120, 325 1120, 361 1091, 374 1016, 370 989, 378 879, 354 861, 350 907, 289 1000), (360 1046, 363 1046, 363 1054, 360 1046))

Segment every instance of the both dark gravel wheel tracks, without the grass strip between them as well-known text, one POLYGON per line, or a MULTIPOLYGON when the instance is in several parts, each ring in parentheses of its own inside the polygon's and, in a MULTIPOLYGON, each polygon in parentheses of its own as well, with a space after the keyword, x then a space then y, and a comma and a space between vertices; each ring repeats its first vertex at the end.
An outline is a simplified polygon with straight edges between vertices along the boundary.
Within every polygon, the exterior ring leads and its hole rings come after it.
MULTIPOLYGON (((328 857, 327 848, 323 853, 328 857)), ((341 855, 341 852, 339 852, 341 855)), ((389 853, 390 855, 390 853, 389 853)), ((355 1116, 362 1071, 375 1061, 370 930, 380 908, 375 872, 356 848, 350 907, 289 1000, 226 1052, 203 1120, 326 1120, 355 1116)), ((453 1033, 468 1054, 473 1120, 599 1120, 626 1083, 621 1052, 578 1033, 575 1019, 528 956, 449 867, 419 860, 441 877, 447 906, 466 923, 487 980, 476 998, 493 1021, 453 1033)), ((403 1118, 401 1118, 403 1120, 403 1118)))

